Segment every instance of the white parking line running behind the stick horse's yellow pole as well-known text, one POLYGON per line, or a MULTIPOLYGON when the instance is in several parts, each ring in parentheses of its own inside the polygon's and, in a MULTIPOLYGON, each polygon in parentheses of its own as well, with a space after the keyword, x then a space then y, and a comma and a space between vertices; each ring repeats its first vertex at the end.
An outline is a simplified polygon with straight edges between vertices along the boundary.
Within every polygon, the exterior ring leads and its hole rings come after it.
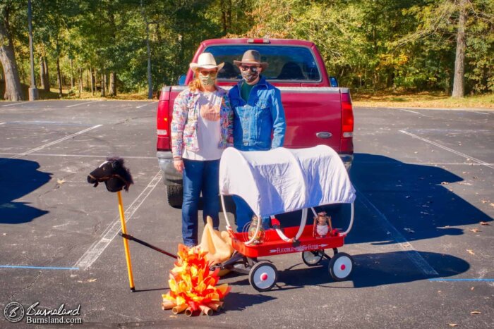
MULTIPOLYGON (((155 190, 155 187, 161 180, 162 173, 161 170, 159 170, 155 177, 153 177, 149 184, 145 187, 143 192, 140 192, 138 197, 135 198, 130 206, 128 206, 128 209, 125 211, 126 222, 128 222, 132 218, 135 211, 139 209, 139 207, 143 204, 149 194, 151 194, 151 192, 155 190)), ((100 257, 100 255, 104 252, 104 249, 108 247, 114 237, 119 234, 121 230, 120 225, 120 217, 117 216, 113 223, 109 225, 107 230, 103 232, 100 240, 97 240, 95 243, 92 244, 92 246, 76 262, 76 265, 74 267, 78 267, 83 271, 90 268, 92 263, 94 263, 98 259, 98 257, 100 257)))

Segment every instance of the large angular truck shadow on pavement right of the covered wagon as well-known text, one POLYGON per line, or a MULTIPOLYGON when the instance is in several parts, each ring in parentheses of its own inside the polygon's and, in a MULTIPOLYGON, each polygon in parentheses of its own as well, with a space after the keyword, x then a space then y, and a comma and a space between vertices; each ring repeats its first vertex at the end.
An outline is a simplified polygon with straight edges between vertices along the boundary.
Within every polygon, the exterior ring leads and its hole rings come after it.
MULTIPOLYGON (((442 168, 407 164, 373 154, 355 154, 351 167, 351 181, 361 193, 357 194, 356 206, 366 206, 368 199, 409 241, 462 235, 462 229, 452 227, 492 221, 446 184, 462 180, 442 168)), ((372 206, 366 207, 377 214, 372 206)), ((351 242, 373 242, 369 238, 372 235, 353 235, 351 242)))

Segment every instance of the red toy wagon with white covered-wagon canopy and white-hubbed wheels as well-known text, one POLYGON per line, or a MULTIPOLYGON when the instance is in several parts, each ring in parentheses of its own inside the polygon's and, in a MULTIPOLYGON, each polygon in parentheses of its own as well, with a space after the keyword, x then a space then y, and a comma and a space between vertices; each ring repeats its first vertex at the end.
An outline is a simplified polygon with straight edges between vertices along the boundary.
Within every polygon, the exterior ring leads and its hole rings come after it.
POLYGON ((355 190, 338 154, 319 145, 309 149, 272 149, 243 152, 226 149, 219 165, 219 188, 227 230, 236 252, 228 261, 217 266, 249 275, 249 282, 258 291, 267 291, 277 282, 277 268, 258 257, 301 252, 308 266, 330 259, 329 273, 334 280, 346 280, 351 274, 353 260, 349 254, 338 252, 354 221, 355 190), (251 233, 234 232, 224 206, 224 195, 242 197, 258 218, 271 218, 272 229, 263 232, 261 221, 251 233), (315 235, 313 225, 306 225, 307 211, 314 216, 315 206, 351 204, 349 228, 344 232, 329 229, 315 235), (282 228, 275 215, 302 210, 299 226, 282 228), (325 249, 332 249, 328 256, 325 249))

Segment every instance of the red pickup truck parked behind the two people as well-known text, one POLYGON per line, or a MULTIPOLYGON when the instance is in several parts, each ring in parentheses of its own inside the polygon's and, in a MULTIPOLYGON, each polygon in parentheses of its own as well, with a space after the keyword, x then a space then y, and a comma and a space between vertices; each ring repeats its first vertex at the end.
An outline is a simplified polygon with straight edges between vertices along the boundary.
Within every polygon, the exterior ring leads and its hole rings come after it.
MULTIPOLYGON (((323 58, 313 42, 294 39, 210 39, 202 42, 193 61, 207 51, 217 63, 224 62, 218 73, 218 85, 229 89, 241 79, 234 60, 248 49, 260 52, 269 67, 263 75, 282 92, 287 119, 284 147, 303 148, 326 144, 335 149, 345 166, 353 160, 354 114, 348 88, 337 87, 328 77, 323 58)), ((186 89, 193 73, 179 79, 178 86, 165 86, 157 109, 157 158, 167 185, 170 206, 181 207, 182 177, 172 163, 170 125, 176 96, 186 89)))

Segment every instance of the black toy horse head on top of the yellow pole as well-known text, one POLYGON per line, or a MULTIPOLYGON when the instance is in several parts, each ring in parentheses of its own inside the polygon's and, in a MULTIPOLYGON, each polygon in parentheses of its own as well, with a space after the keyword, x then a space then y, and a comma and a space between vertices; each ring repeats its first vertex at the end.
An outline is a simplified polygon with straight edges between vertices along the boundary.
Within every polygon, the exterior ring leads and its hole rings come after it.
POLYGON ((119 192, 122 189, 128 192, 128 187, 133 184, 131 171, 123 166, 123 159, 108 158, 98 168, 88 175, 88 183, 97 187, 100 182, 107 185, 109 192, 119 192))

